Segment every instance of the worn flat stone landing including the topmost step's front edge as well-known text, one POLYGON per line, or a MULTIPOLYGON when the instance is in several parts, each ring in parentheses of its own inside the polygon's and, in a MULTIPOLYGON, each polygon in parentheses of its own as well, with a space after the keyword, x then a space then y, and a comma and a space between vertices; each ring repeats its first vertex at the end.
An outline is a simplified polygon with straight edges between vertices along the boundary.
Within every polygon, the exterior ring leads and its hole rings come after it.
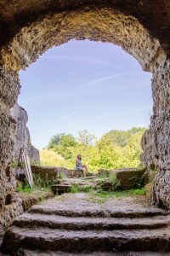
POLYGON ((65 194, 31 207, 31 212, 68 217, 127 217, 141 218, 167 215, 162 209, 150 207, 145 197, 114 198, 104 204, 94 203, 85 193, 65 194))

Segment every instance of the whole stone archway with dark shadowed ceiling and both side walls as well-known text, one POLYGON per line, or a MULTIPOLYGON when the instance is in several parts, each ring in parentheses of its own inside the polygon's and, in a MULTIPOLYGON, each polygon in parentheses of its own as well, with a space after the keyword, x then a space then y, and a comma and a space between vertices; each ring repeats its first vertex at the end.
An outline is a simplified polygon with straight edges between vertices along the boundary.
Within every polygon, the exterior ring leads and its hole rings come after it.
MULTIPOLYGON (((150 119, 150 130, 145 132, 142 140, 142 161, 149 169, 154 164, 159 171, 154 183, 153 201, 157 204, 161 201, 161 205, 170 207, 170 183, 167 182, 170 179, 170 44, 166 33, 168 18, 163 19, 163 14, 169 15, 170 5, 167 1, 156 5, 141 0, 135 1, 136 6, 132 0, 126 3, 114 0, 107 5, 106 2, 43 0, 42 5, 42 1, 37 0, 28 6, 24 3, 23 9, 19 6, 18 10, 12 9, 12 4, 9 11, 7 6, 3 6, 2 24, 7 28, 0 42, 0 194, 3 199, 7 191, 11 194, 15 187, 14 178, 10 183, 5 182, 5 169, 14 148, 16 122, 11 118, 10 108, 20 92, 19 70, 28 67, 54 45, 74 38, 88 38, 122 46, 145 71, 153 73, 154 113, 150 119), (156 10, 160 20, 154 18, 156 10), (161 26, 164 27, 158 32, 161 26)), ((1 223, 4 224, 8 209, 2 205, 0 211, 1 223)), ((13 217, 18 213, 15 211, 13 217)))

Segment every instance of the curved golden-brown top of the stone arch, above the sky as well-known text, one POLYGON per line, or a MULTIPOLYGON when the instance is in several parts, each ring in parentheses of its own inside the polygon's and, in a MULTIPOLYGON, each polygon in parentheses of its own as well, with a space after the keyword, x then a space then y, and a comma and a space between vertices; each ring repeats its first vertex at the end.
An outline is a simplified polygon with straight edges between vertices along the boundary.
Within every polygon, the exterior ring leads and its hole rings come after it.
POLYGON ((19 71, 54 45, 71 39, 120 45, 147 71, 151 71, 160 51, 159 41, 132 15, 111 8, 83 9, 47 15, 23 27, 8 47, 2 49, 3 66, 19 71))

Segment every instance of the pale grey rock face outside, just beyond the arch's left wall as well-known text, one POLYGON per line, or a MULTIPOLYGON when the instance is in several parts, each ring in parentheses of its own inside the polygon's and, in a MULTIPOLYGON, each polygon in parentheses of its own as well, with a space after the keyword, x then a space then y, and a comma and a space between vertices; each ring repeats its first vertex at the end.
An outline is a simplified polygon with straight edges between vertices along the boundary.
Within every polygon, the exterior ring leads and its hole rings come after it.
POLYGON ((29 155, 32 163, 39 164, 39 151, 31 145, 31 137, 26 123, 28 115, 24 108, 21 108, 18 103, 14 105, 11 110, 12 117, 16 120, 16 133, 14 137, 14 160, 19 160, 20 148, 24 148, 25 152, 29 155))

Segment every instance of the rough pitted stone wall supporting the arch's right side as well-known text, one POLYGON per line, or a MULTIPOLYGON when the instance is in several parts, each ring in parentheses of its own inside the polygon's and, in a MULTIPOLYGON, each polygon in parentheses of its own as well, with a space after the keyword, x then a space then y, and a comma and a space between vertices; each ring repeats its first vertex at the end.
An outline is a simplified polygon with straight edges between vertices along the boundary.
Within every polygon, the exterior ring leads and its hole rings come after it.
POLYGON ((144 133, 142 161, 148 172, 155 168, 152 201, 170 208, 170 61, 161 55, 153 68, 154 113, 144 133))

